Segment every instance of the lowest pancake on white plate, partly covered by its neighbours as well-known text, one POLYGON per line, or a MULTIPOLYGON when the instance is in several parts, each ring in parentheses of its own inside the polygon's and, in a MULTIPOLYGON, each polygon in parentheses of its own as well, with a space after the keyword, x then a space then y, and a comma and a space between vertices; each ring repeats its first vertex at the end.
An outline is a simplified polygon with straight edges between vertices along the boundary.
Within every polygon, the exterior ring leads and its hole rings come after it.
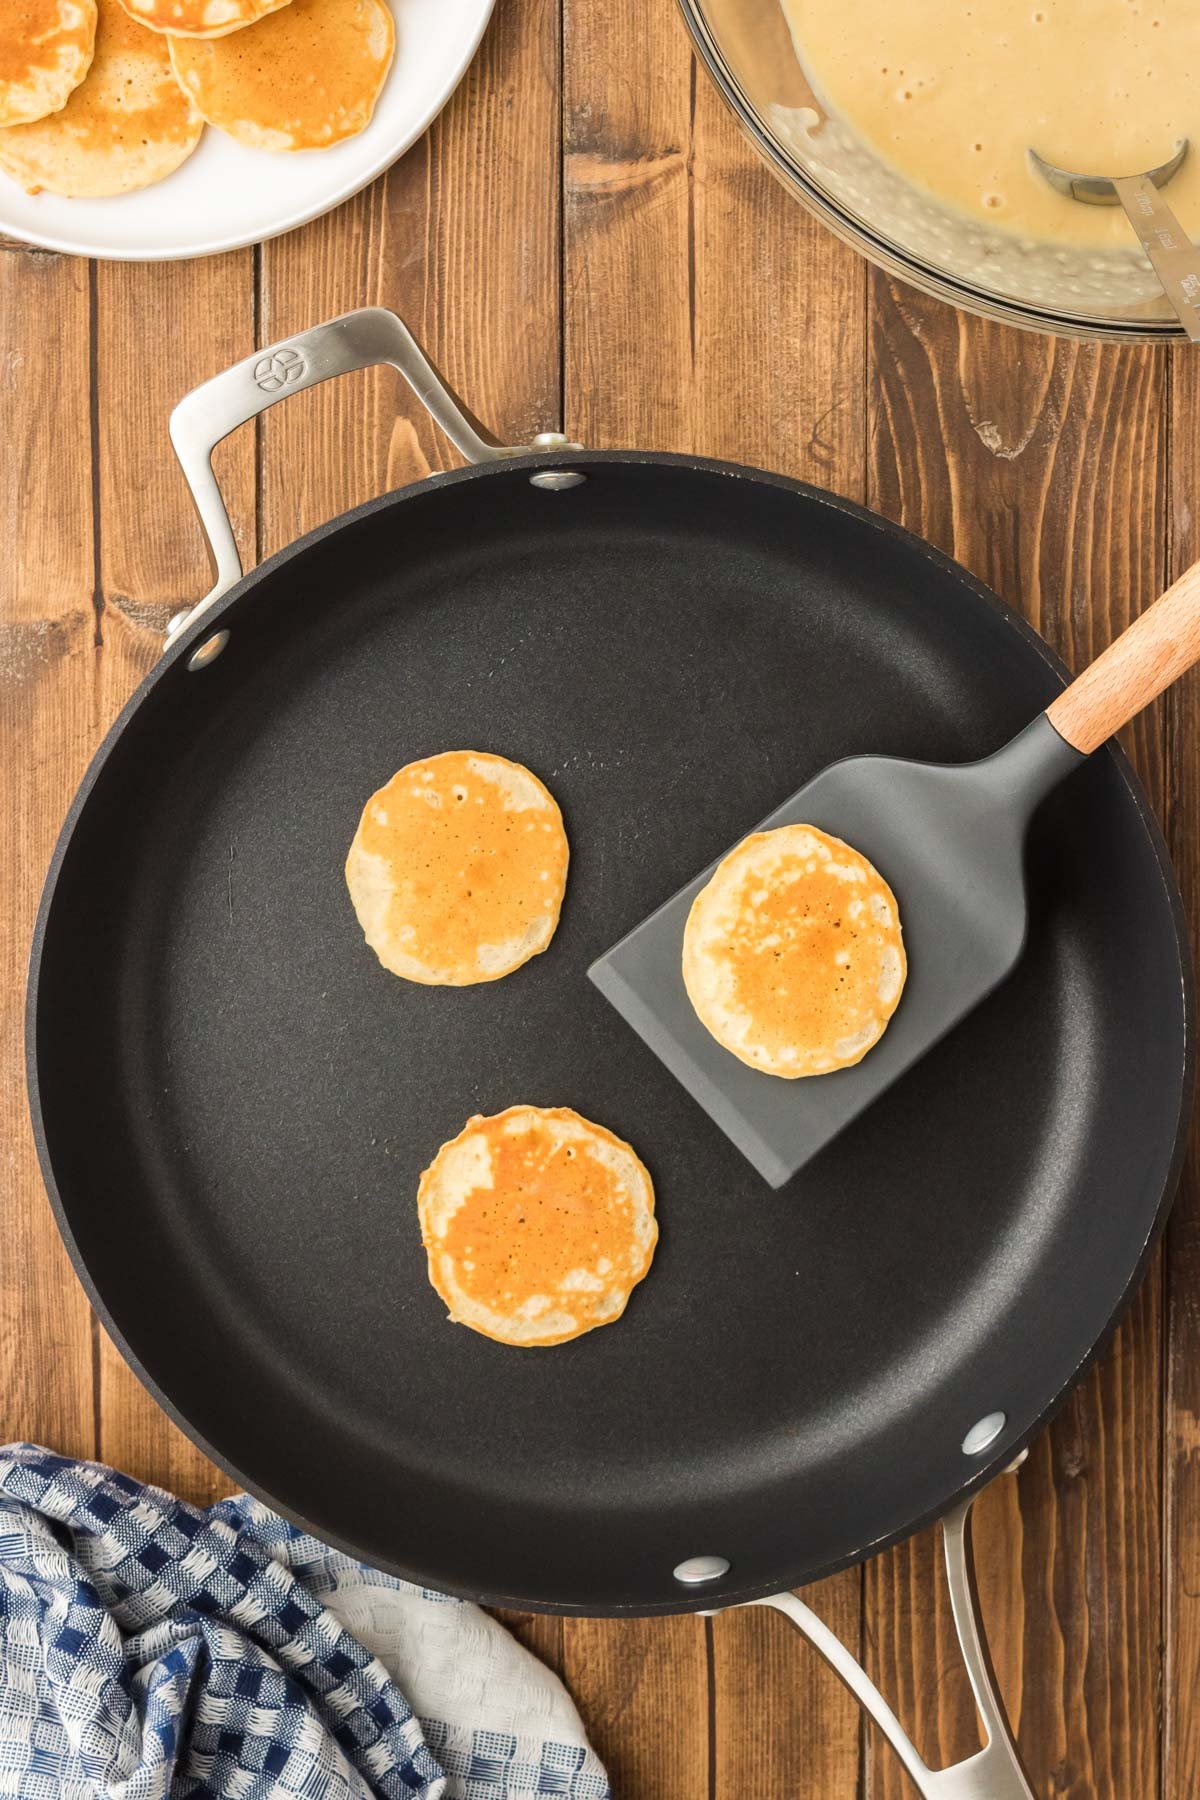
POLYGON ((97 198, 160 182, 191 157, 203 119, 171 74, 166 38, 99 0, 95 58, 61 112, 0 131, 0 169, 36 193, 97 198))

